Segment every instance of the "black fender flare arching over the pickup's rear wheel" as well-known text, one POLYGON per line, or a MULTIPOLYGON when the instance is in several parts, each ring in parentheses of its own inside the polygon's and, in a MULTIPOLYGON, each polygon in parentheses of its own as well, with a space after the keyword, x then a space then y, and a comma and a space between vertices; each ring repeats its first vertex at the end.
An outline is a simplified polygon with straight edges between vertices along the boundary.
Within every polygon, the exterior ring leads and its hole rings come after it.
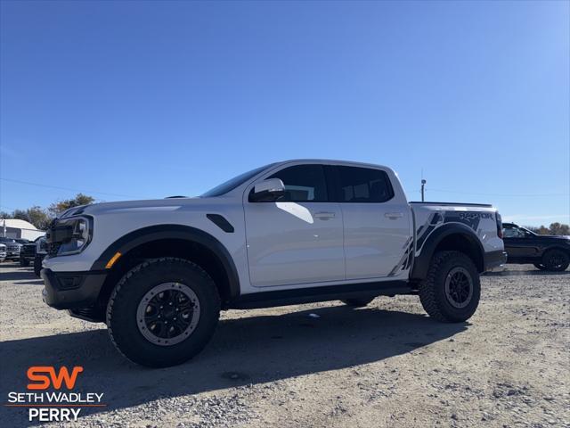
POLYGON ((461 223, 446 223, 437 227, 421 246, 421 252, 414 260, 411 279, 424 279, 436 251, 446 250, 465 253, 479 272, 485 271, 485 249, 473 229, 461 223))

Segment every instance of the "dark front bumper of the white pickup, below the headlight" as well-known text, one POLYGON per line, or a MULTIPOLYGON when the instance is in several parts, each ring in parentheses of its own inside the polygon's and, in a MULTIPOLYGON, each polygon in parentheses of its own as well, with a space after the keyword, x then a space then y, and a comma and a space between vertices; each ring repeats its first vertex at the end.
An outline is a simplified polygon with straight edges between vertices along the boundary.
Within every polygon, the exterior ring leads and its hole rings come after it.
POLYGON ((47 305, 55 309, 80 309, 95 303, 107 272, 54 272, 44 268, 40 275, 45 284, 42 294, 47 305))

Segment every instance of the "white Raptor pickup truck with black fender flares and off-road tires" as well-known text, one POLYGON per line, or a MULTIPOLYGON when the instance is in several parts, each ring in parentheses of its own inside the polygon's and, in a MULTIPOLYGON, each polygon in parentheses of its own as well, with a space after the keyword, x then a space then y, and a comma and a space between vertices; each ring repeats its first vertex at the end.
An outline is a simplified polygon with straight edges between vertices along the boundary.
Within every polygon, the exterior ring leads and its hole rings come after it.
POLYGON ((44 300, 105 322, 126 358, 196 355, 221 309, 418 294, 444 322, 471 317, 479 274, 506 261, 490 205, 411 202, 395 172, 284 161, 197 198, 69 209, 47 232, 44 300))

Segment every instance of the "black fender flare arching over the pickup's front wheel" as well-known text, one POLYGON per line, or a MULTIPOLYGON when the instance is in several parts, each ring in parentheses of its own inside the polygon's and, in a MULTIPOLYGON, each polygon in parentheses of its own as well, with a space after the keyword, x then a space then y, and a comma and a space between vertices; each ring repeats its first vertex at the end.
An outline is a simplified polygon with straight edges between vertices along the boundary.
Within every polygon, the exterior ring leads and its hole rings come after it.
POLYGON ((191 226, 159 225, 143 227, 118 238, 94 261, 92 270, 109 272, 99 304, 106 305, 115 284, 142 259, 165 256, 189 259, 204 268, 216 283, 223 306, 240 295, 239 276, 232 256, 214 236, 191 226), (117 262, 106 268, 118 252, 121 255, 117 262))

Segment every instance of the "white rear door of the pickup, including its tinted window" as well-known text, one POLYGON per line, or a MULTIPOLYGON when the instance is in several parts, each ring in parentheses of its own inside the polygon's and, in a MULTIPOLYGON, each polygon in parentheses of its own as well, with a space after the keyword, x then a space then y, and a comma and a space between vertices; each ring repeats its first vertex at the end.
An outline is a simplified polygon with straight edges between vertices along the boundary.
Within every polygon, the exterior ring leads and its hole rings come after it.
POLYGON ((346 279, 399 278, 411 263, 411 210, 387 171, 336 166, 344 221, 346 279))

